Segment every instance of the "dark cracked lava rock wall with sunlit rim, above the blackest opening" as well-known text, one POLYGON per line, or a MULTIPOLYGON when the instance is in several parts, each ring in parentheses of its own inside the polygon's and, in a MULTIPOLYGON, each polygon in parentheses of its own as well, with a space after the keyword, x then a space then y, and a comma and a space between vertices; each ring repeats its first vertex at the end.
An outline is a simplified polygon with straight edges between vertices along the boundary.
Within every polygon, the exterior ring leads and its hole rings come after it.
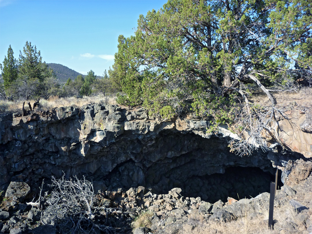
POLYGON ((2 115, 1 188, 18 180, 40 184, 64 172, 85 175, 99 189, 142 185, 163 191, 230 167, 273 172, 272 163, 283 167, 294 158, 278 150, 238 157, 227 147, 230 136, 208 134, 207 126, 207 119, 193 115, 165 121, 142 108, 106 104, 2 115))

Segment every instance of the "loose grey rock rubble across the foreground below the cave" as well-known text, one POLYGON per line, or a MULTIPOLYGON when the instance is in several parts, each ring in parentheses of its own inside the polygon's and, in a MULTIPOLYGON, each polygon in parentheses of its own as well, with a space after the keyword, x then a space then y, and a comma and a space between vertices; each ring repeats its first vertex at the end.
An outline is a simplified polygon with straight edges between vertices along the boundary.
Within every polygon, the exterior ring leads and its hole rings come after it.
MULTIPOLYGON (((288 219, 281 224, 275 222, 275 229, 280 233, 312 232, 312 163, 297 160, 290 163, 290 170, 285 178, 285 185, 277 191, 275 208, 289 204, 296 219, 288 219), (301 169, 300 169, 301 168, 301 169), (302 169, 305 170, 302 170, 302 169), (300 176, 297 173, 300 172, 300 176)), ((211 223, 233 222, 250 214, 251 219, 259 219, 268 211, 269 193, 257 197, 243 198, 236 201, 228 198, 211 204, 200 197, 183 197, 180 188, 173 188, 167 194, 154 194, 150 189, 139 186, 127 191, 98 191, 94 196, 94 217, 84 218, 88 222, 86 232, 94 233, 183 233, 184 225, 198 225, 196 216, 201 216, 205 225, 211 223), (144 219, 145 227, 137 227, 139 218, 144 219), (133 229, 133 227, 135 227, 133 229)), ((30 188, 23 182, 11 182, 0 207, 1 233, 62 233, 61 225, 71 225, 68 220, 57 220, 55 210, 48 206, 47 195, 36 206, 29 202, 30 188), (63 223, 60 223, 63 222, 63 223)), ((81 216, 82 217, 82 216, 81 216)), ((80 219, 79 225, 85 225, 80 219)), ((265 221, 267 223, 267 221, 265 221)), ((77 224, 76 224, 77 225, 77 224)), ((266 224, 267 225, 267 224, 266 224)), ((85 225, 86 227, 86 225, 85 225)), ((220 233, 217 229, 214 233, 220 233)))

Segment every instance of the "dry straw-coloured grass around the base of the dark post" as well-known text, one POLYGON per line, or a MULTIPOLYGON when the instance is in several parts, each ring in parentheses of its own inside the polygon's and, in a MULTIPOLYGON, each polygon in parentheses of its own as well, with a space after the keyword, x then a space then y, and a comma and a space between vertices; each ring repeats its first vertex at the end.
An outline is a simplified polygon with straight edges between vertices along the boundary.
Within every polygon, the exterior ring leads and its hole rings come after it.
MULTIPOLYGON (((260 207, 260 206, 259 206, 260 207)), ((299 227, 298 213, 286 202, 284 205, 274 208, 274 230, 268 228, 267 209, 260 207, 259 214, 252 217, 252 211, 243 209, 243 217, 232 222, 215 222, 201 218, 189 216, 188 222, 183 225, 183 231, 180 234, 293 234, 301 233, 299 230, 290 229, 289 224, 295 223, 299 227), (192 220, 190 222, 190 220, 192 220), (194 224, 194 220, 196 224, 194 224)))

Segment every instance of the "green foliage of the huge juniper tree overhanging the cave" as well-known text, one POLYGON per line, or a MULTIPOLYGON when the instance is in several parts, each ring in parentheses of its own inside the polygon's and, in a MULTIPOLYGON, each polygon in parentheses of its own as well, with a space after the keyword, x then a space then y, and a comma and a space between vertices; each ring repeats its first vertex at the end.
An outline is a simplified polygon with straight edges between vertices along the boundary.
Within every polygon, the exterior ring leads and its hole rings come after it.
POLYGON ((301 76, 312 84, 311 2, 169 0, 140 15, 135 35, 119 36, 109 71, 125 93, 118 102, 168 117, 191 100, 198 115, 231 123, 241 87, 255 79, 285 86, 301 76))

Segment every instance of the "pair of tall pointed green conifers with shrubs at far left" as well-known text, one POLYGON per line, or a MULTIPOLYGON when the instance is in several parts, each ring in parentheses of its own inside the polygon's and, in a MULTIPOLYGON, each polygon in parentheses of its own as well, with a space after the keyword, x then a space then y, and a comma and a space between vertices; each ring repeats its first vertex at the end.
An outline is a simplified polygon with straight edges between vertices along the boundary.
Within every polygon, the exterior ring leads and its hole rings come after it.
POLYGON ((18 61, 13 57, 11 45, 7 57, 0 65, 7 95, 15 99, 49 98, 59 93, 59 83, 51 68, 42 62, 40 51, 26 41, 18 61))

